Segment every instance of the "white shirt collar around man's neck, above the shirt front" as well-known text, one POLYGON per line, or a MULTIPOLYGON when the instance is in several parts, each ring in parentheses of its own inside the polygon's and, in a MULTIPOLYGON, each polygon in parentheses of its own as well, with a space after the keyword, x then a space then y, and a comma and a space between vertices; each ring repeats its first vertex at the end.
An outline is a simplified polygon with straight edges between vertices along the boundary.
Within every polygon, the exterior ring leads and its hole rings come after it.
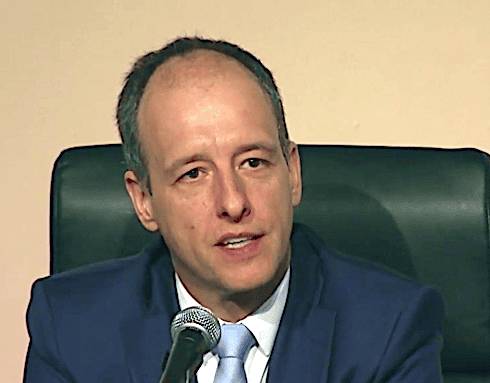
MULTIPOLYGON (((286 298, 289 291, 289 277, 290 268, 288 268, 272 295, 257 310, 239 322, 247 326, 255 336, 259 349, 266 356, 269 356, 272 352, 277 330, 279 329, 279 322, 281 321, 284 306, 286 305, 286 298)), ((187 291, 177 273, 175 273, 175 287, 177 289, 179 306, 182 310, 192 306, 202 306, 187 291)), ((221 319, 219 321, 221 324, 226 323, 221 319)))

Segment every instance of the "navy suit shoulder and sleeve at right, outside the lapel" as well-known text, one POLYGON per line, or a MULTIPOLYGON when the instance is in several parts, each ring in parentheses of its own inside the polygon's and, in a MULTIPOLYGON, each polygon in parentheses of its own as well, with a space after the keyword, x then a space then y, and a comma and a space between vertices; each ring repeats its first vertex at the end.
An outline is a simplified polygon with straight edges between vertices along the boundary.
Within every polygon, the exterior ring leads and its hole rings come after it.
POLYGON ((335 318, 333 380, 385 382, 406 375, 410 382, 439 381, 441 296, 381 266, 328 249, 311 230, 300 236, 297 249, 303 252, 296 264, 301 259, 313 265, 308 270, 317 276, 319 306, 335 318), (420 378, 429 374, 430 379, 420 378))

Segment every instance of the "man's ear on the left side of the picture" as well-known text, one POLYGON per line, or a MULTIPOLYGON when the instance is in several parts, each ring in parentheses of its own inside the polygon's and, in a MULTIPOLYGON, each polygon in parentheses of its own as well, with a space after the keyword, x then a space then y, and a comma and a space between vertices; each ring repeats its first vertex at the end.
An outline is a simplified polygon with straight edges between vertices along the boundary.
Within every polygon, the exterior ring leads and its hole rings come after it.
POLYGON ((151 195, 147 187, 140 182, 132 170, 127 170, 124 173, 124 184, 141 224, 146 230, 157 231, 158 223, 154 218, 151 195))

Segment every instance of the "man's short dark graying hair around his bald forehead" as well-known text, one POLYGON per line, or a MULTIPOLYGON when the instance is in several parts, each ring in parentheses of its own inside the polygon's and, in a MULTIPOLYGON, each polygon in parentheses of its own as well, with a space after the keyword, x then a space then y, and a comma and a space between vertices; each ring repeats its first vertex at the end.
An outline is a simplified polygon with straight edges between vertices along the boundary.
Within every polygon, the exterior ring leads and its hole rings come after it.
POLYGON ((172 57, 185 56, 196 50, 210 50, 235 59, 245 66, 255 77, 260 87, 268 95, 278 125, 281 150, 286 161, 289 156, 289 135, 284 118, 279 89, 269 69, 250 52, 223 40, 210 40, 199 37, 178 38, 163 48, 149 52, 134 63, 126 76, 124 87, 117 104, 117 125, 122 140, 124 157, 128 169, 133 170, 138 179, 150 186, 147 162, 138 134, 138 108, 146 85, 155 70, 172 57))

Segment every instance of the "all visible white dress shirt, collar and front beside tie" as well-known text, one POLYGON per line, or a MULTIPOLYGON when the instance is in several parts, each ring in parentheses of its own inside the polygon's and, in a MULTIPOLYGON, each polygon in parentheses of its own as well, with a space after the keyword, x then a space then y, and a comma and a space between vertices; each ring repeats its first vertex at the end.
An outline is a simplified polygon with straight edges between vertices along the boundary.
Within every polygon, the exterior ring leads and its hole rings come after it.
MULTIPOLYGON (((269 358, 288 296, 289 274, 288 268, 274 293, 255 312, 238 322, 247 326, 257 340, 257 345, 250 349, 245 360, 245 374, 248 383, 266 383, 267 381, 269 358)), ((187 291, 177 274, 175 274, 175 281, 181 310, 191 306, 202 306, 187 291)), ((226 323, 221 319, 219 321, 221 324, 226 323)), ((197 371, 198 383, 213 383, 218 362, 219 357, 212 351, 204 355, 203 363, 197 371)))

